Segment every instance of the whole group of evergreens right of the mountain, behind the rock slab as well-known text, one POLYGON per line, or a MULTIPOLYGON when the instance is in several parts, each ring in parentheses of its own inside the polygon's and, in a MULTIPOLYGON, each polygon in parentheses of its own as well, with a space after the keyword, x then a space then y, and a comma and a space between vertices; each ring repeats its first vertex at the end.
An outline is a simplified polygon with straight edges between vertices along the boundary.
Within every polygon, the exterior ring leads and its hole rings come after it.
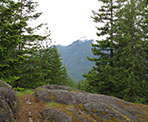
POLYGON ((96 57, 89 58, 95 62, 95 67, 84 75, 84 82, 88 84, 84 89, 148 103, 148 9, 145 1, 100 1, 101 8, 93 12, 94 21, 100 23, 99 40, 92 45, 96 57))

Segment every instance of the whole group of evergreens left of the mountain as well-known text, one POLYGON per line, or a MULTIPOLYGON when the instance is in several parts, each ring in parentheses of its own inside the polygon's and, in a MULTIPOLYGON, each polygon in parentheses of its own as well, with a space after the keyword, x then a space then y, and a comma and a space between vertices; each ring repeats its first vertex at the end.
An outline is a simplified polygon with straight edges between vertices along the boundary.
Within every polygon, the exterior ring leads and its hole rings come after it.
POLYGON ((36 13, 37 6, 32 0, 0 3, 0 79, 17 90, 47 83, 68 85, 66 67, 56 47, 49 48, 46 43, 50 42, 46 24, 35 27, 30 24, 41 15, 36 13), (43 27, 46 27, 45 35, 35 33, 43 27))

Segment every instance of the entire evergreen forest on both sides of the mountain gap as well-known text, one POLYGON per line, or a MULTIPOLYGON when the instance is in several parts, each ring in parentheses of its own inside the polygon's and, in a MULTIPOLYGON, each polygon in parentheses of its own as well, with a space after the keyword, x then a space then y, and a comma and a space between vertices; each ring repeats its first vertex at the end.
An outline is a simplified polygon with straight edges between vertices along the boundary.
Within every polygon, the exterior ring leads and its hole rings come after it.
POLYGON ((46 23, 32 26, 42 13, 32 0, 0 2, 0 79, 16 90, 45 84, 76 87, 87 92, 148 104, 147 0, 98 0, 92 11, 97 23, 92 44, 95 66, 78 84, 67 75, 46 23), (37 30, 43 29, 41 35, 37 30))

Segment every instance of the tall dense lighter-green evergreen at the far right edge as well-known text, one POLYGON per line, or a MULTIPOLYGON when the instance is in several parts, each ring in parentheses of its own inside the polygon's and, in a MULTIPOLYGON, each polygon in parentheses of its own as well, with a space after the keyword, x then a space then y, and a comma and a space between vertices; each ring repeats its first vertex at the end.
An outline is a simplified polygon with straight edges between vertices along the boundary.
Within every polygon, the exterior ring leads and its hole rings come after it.
POLYGON ((115 80, 118 97, 132 102, 146 103, 148 79, 147 29, 145 1, 130 0, 119 12, 115 80), (143 99, 144 98, 144 99, 143 99))

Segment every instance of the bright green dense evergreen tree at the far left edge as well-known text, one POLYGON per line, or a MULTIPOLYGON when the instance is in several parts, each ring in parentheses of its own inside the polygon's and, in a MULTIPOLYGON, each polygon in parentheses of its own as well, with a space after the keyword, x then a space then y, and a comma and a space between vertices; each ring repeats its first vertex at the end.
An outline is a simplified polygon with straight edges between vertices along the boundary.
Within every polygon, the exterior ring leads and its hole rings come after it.
POLYGON ((15 12, 19 3, 12 0, 0 2, 0 79, 15 81, 17 76, 16 64, 19 63, 17 46, 21 42, 18 28, 21 22, 16 22, 15 12))

